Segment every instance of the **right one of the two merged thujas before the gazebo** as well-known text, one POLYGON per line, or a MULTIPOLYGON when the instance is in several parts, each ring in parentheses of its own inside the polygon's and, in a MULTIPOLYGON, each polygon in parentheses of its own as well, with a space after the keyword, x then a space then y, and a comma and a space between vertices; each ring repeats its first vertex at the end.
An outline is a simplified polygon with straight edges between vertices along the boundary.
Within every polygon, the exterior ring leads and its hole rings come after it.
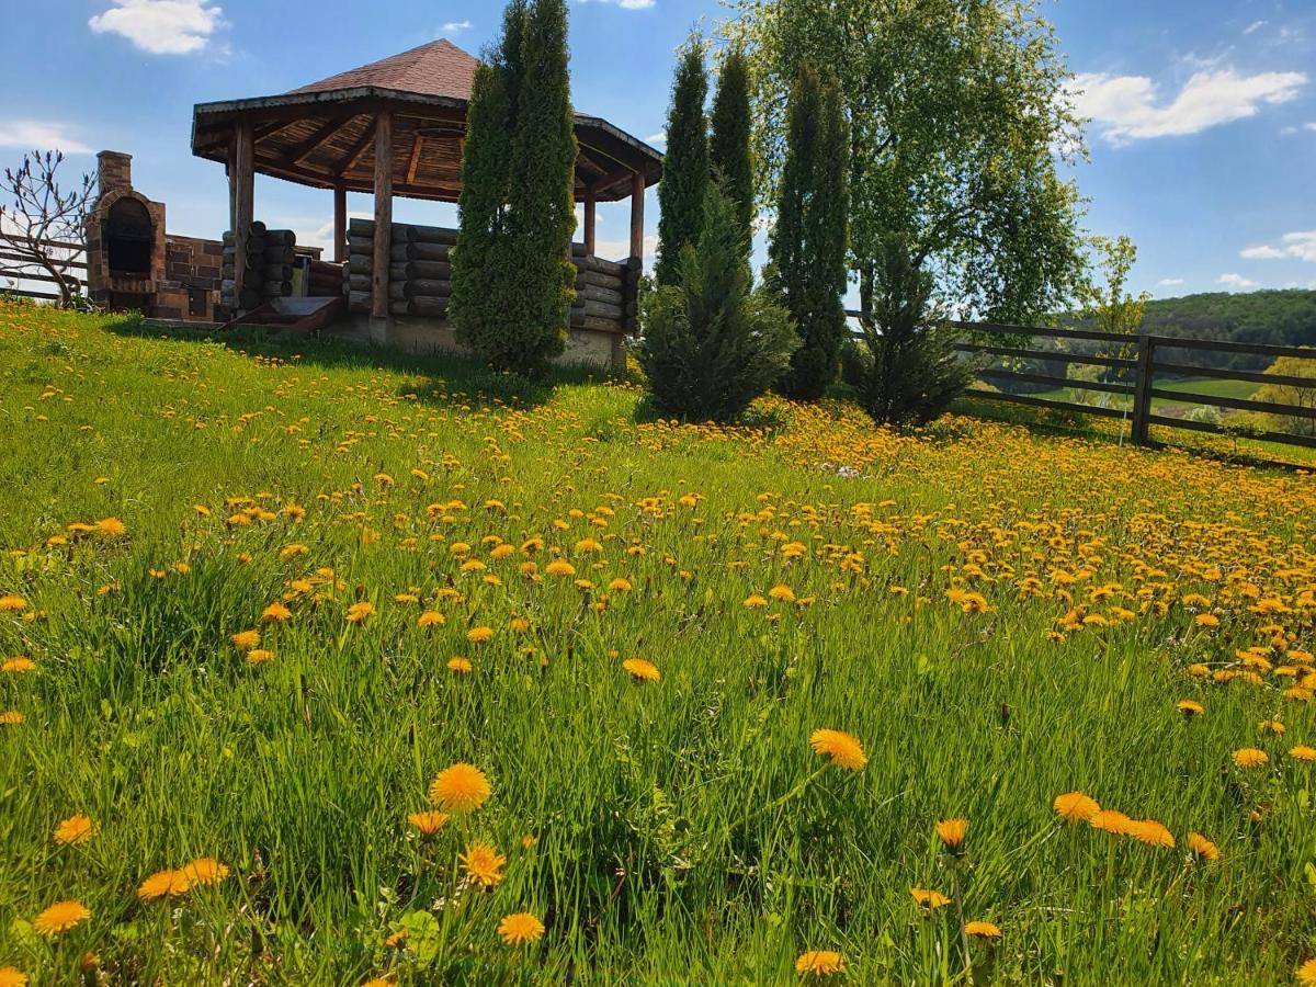
POLYGON ((575 297, 575 116, 566 0, 536 0, 525 18, 512 137, 507 286, 508 346, 500 368, 538 375, 566 349, 575 297))

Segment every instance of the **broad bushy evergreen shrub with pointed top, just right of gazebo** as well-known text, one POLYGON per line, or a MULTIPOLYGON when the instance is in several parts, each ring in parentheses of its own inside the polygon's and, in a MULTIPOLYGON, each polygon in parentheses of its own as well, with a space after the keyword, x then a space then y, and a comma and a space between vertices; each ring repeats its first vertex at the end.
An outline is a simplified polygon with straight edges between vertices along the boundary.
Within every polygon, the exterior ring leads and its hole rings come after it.
POLYGON ((790 316, 766 291, 750 291, 744 251, 736 205, 708 190, 699 242, 682 250, 678 284, 644 300, 638 355, 658 412, 734 420, 788 365, 797 345, 790 316))

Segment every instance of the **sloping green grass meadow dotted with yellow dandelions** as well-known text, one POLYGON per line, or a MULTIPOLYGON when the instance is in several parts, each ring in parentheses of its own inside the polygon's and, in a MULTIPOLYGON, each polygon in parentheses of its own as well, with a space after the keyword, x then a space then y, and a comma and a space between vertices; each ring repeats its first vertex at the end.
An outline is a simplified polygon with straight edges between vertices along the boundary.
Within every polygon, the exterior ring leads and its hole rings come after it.
POLYGON ((0 304, 0 984, 1316 983, 1316 480, 0 304))

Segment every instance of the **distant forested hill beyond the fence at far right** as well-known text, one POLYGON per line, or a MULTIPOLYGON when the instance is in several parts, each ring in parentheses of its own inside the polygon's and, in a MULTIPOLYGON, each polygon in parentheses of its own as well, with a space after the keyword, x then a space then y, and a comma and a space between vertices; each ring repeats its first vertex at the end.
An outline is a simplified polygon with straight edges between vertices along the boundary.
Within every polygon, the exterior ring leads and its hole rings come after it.
MULTIPOLYGON (((1067 320, 1066 320, 1067 321, 1067 320)), ((1087 328, 1090 320, 1070 325, 1087 328)), ((1153 336, 1275 346, 1316 346, 1316 291, 1253 291, 1246 295, 1213 292, 1149 301, 1142 326, 1153 336)), ((1180 351, 1177 355, 1186 355, 1180 351)), ((1196 350, 1191 363, 1234 370, 1263 370, 1266 357, 1212 354, 1196 350)))

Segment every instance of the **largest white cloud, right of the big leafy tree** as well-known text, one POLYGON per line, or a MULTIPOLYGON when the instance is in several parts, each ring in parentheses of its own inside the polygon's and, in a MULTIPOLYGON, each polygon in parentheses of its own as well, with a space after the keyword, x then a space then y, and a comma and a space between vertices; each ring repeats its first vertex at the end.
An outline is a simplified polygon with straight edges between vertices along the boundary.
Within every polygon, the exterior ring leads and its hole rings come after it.
POLYGON ((1078 112, 1091 117, 1112 143, 1195 134, 1255 116, 1262 105, 1288 103, 1307 84, 1304 72, 1241 75, 1233 68, 1195 72, 1177 96, 1158 100, 1157 84, 1144 75, 1088 72, 1069 92, 1078 112))

